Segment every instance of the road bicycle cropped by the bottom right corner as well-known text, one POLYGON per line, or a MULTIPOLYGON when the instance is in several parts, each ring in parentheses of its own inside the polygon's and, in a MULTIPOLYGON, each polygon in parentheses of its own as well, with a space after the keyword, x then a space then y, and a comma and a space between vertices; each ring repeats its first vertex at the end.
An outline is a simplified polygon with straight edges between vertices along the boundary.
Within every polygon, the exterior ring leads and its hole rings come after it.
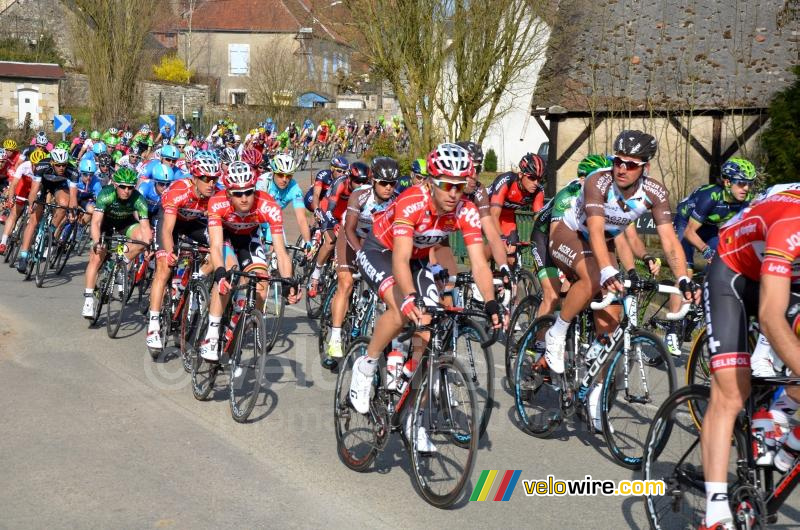
MULTIPOLYGON (((736 418, 728 467, 728 503, 737 528, 764 528, 778 520, 778 511, 800 477, 800 459, 785 474, 756 465, 765 447, 763 434, 752 429, 753 414, 768 407, 776 389, 800 385, 798 377, 755 377, 744 410, 736 418)), ((646 480, 661 480, 665 491, 645 497, 652 528, 697 528, 705 511, 700 431, 711 390, 690 385, 673 393, 659 408, 644 445, 646 480), (663 494, 661 494, 663 493, 663 494)))

